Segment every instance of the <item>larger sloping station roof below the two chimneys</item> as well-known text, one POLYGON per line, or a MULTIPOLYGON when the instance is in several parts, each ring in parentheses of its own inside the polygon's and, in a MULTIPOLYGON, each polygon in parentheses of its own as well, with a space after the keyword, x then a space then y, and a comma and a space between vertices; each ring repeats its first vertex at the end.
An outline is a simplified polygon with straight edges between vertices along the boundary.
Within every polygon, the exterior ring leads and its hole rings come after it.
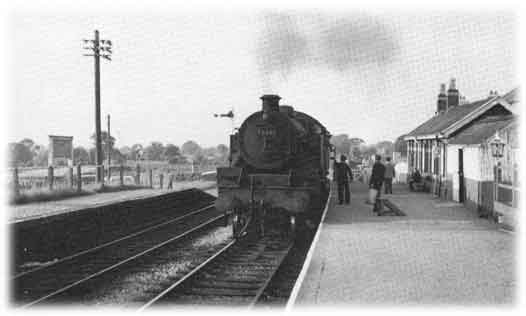
POLYGON ((423 136, 430 134, 438 134, 444 129, 451 126, 453 123, 459 121, 469 113, 473 112, 477 108, 486 104, 493 97, 478 100, 472 103, 458 105, 456 107, 448 109, 445 113, 437 114, 409 132, 405 137, 408 136, 423 136))

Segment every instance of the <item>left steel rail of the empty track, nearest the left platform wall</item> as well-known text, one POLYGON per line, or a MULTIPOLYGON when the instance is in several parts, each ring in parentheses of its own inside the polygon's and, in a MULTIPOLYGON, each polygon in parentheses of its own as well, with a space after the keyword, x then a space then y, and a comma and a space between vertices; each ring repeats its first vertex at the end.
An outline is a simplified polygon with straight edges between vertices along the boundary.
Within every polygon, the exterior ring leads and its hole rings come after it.
POLYGON ((27 275, 27 274, 30 274, 30 273, 34 273, 34 272, 38 272, 40 270, 43 270, 43 269, 46 269, 46 268, 49 268, 49 267, 53 267, 59 263, 62 263, 62 262, 65 262, 65 261, 68 261, 68 260, 71 260, 71 259, 74 259, 74 258, 77 258, 77 257, 80 257, 82 255, 85 255, 85 254, 88 254, 88 253, 91 253, 91 252, 94 252, 96 250, 99 250, 99 249, 102 249, 102 248, 105 248, 105 247, 108 247, 108 246, 111 246, 113 244, 116 244, 118 242, 121 242, 121 241, 124 241, 126 239, 130 239, 130 238, 133 238, 133 237, 136 237, 136 236, 139 236, 139 235, 142 235, 144 233, 147 233, 151 230, 154 230, 156 228, 159 228, 159 227, 163 227, 163 226, 166 226, 166 225, 169 225, 173 222, 176 222, 176 221, 180 221, 182 219, 185 219, 187 218, 188 216, 191 216, 191 215, 195 215, 195 214, 198 214, 198 213, 201 213, 201 212, 204 212, 205 210, 208 210, 210 208, 214 207, 214 204, 210 204, 210 205, 207 205, 205 207, 202 207, 198 210, 195 210, 195 211, 191 211, 190 213, 187 213, 185 215, 182 215, 182 216, 179 216, 179 217, 176 217, 176 218, 172 218, 171 220, 168 220, 166 222, 162 222, 162 223, 159 223, 159 224, 156 224, 156 225, 153 225, 153 226, 150 226, 150 227, 147 227, 145 229, 142 229, 138 232, 135 232, 135 233, 132 233, 132 234, 129 234, 129 235, 126 235, 126 236, 123 236, 123 237, 120 237, 118 239, 114 239, 112 241, 109 241, 109 242, 106 242, 106 243, 103 243, 103 244, 100 244, 98 246, 95 246, 93 248, 89 248, 89 249, 86 249, 86 250, 83 250, 83 251, 80 251, 80 252, 77 252, 75 254, 72 254, 72 255, 69 255, 69 256, 66 256, 66 257, 63 257, 63 258, 60 258, 59 260, 56 260, 56 261, 53 261, 52 263, 50 264, 46 264, 46 265, 43 265, 43 266, 40 266, 40 267, 37 267, 37 268, 34 268, 34 269, 31 269, 31 270, 28 270, 28 271, 24 271, 24 272, 21 272, 21 273, 18 273, 14 276, 11 277, 11 280, 16 280, 17 278, 21 277, 21 276, 24 276, 24 275, 27 275))

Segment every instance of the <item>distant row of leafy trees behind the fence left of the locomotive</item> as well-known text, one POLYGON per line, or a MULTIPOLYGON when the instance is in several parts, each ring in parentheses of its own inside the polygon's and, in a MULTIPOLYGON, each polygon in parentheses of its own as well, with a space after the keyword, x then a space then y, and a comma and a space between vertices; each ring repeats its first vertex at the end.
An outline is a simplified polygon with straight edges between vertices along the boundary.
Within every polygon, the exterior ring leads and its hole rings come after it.
MULTIPOLYGON (((92 147, 77 146, 73 148, 74 164, 95 164, 95 135, 92 135, 90 139, 92 140, 92 147)), ((115 146, 115 137, 108 137, 108 133, 105 131, 101 133, 101 143, 104 162, 108 159, 108 148, 111 148, 111 161, 118 164, 130 160, 137 162, 159 161, 170 164, 228 164, 229 149, 224 144, 215 147, 202 147, 196 141, 189 140, 181 146, 177 146, 171 143, 163 144, 152 141, 147 145, 133 144, 117 147, 115 146)), ((49 148, 46 146, 36 144, 29 138, 24 138, 19 142, 8 144, 8 163, 10 166, 44 167, 48 165, 48 152, 49 148)))

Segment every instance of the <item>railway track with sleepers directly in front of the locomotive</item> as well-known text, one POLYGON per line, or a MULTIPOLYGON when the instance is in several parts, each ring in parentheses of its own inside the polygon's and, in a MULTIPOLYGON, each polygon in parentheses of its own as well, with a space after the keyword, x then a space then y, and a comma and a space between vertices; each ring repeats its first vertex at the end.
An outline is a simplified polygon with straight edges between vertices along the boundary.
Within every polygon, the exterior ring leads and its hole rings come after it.
POLYGON ((276 236, 232 241, 140 310, 167 304, 252 307, 292 245, 292 240, 276 236))

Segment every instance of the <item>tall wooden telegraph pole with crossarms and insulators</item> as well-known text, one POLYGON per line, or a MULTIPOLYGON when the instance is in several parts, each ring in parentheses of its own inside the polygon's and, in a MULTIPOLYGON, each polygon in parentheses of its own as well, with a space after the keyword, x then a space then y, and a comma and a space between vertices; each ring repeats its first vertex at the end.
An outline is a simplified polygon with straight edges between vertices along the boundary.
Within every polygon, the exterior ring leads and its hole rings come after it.
MULTIPOLYGON (((95 39, 84 40, 84 44, 93 44, 93 46, 84 47, 90 50, 91 54, 84 56, 93 56, 95 60, 95 147, 96 147, 96 164, 97 164, 97 182, 101 183, 102 178, 102 143, 100 128, 100 57, 111 61, 111 41, 100 40, 99 31, 95 30, 95 39)), ((108 131, 109 132, 109 131, 108 131)))

